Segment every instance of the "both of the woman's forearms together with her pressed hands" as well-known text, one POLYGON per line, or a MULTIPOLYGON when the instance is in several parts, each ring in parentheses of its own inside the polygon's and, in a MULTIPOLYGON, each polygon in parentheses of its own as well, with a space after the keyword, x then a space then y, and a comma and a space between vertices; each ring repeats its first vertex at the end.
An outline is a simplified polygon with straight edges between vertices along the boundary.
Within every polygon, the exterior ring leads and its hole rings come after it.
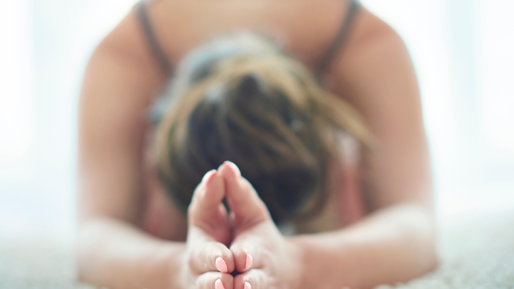
POLYGON ((285 238, 228 161, 204 176, 187 217, 185 243, 151 238, 117 220, 90 221, 78 245, 81 280, 139 289, 372 288, 436 265, 423 209, 391 206, 341 230, 285 238))

